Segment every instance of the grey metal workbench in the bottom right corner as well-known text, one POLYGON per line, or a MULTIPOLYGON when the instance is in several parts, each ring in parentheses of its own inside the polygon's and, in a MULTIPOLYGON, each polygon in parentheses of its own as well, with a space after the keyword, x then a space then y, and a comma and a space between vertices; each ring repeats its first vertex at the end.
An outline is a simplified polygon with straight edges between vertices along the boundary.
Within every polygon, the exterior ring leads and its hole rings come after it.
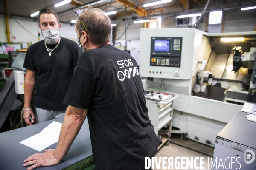
POLYGON ((248 153, 249 149, 256 154, 256 122, 247 120, 245 116, 248 114, 240 111, 217 134, 213 155, 213 163, 216 161, 217 164, 212 165, 212 170, 256 170, 255 155, 248 153), (252 159, 252 163, 245 163, 252 159))

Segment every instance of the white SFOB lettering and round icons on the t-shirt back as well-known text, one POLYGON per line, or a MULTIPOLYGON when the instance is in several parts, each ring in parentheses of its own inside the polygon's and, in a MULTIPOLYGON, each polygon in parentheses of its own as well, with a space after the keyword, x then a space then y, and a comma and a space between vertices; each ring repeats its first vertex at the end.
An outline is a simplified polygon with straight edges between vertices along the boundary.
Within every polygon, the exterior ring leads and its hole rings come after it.
MULTIPOLYGON (((129 66, 133 66, 133 63, 131 62, 131 59, 125 59, 125 60, 118 60, 117 61, 117 64, 120 65, 119 68, 125 68, 126 67, 129 67, 129 66)), ((128 70, 125 69, 124 72, 122 71, 118 71, 117 72, 117 78, 120 80, 120 81, 124 81, 125 77, 127 77, 128 79, 132 77, 134 77, 135 75, 139 75, 139 70, 137 67, 134 67, 134 68, 129 68, 128 70)))

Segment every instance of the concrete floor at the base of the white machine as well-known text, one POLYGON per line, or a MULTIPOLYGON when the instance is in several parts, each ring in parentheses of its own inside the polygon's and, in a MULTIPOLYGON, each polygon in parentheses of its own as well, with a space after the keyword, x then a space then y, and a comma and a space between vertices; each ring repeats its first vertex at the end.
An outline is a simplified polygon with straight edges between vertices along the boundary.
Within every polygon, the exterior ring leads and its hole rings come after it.
MULTIPOLYGON (((210 168, 208 169, 208 158, 209 158, 209 161, 211 160, 211 158, 209 156, 206 156, 202 153, 198 153, 193 150, 190 150, 185 147, 181 147, 181 146, 178 146, 178 145, 172 144, 172 143, 170 143, 169 146, 163 145, 163 147, 161 147, 158 150, 155 157, 157 157, 158 161, 159 161, 159 157, 167 157, 167 160, 169 157, 173 157, 173 161, 176 157, 189 157, 190 160, 191 160, 191 157, 193 157, 193 160, 195 159, 195 157, 204 157, 204 159, 202 159, 202 161, 204 161, 204 164, 202 164, 202 167, 204 168, 204 170, 210 169, 210 168)), ((180 159, 178 161, 180 161, 180 159)), ((178 164, 177 164, 177 166, 178 166, 178 164)), ((196 161, 196 166, 199 167, 199 159, 196 161)), ((168 167, 168 161, 165 164, 165 167, 166 168, 168 167)), ((190 167, 187 169, 186 163, 183 165, 183 167, 185 167, 186 170, 194 170, 194 169, 191 169, 190 167)), ((180 167, 180 169, 181 169, 181 167, 180 167)), ((157 170, 155 162, 154 162, 154 170, 157 170)), ((162 163, 160 164, 159 170, 164 170, 162 163)), ((173 170, 176 170, 175 166, 173 166, 173 170)))

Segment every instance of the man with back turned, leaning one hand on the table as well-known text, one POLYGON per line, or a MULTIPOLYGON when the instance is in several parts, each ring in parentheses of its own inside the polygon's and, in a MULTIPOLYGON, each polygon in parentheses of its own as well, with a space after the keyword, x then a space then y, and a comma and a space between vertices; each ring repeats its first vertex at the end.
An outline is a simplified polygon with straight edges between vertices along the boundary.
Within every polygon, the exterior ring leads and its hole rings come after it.
POLYGON ((142 170, 160 143, 148 117, 137 63, 110 44, 111 21, 97 8, 77 10, 77 39, 86 51, 79 58, 64 103, 56 149, 24 161, 31 170, 61 162, 88 116, 97 170, 142 170), (81 18, 81 19, 80 19, 81 18))

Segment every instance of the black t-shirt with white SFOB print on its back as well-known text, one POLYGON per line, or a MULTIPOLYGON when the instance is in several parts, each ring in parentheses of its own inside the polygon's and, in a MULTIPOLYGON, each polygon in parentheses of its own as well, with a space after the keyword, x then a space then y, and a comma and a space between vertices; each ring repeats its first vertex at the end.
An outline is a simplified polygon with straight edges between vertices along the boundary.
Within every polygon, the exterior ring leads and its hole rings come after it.
POLYGON ((159 137, 148 117, 144 89, 133 57, 113 45, 79 58, 64 103, 88 108, 97 170, 139 170, 157 152, 159 137))

